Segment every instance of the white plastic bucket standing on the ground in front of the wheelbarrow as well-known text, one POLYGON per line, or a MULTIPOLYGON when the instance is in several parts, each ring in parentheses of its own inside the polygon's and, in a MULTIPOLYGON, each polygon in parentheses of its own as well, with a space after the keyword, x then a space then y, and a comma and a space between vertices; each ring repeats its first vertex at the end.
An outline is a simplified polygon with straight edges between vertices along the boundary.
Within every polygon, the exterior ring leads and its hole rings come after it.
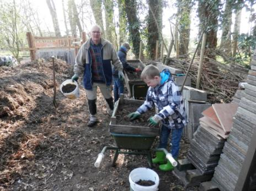
POLYGON ((130 172, 129 182, 131 191, 156 191, 158 190, 159 176, 150 168, 135 168, 130 172), (140 179, 142 181, 153 181, 154 185, 144 186, 136 184, 140 179))

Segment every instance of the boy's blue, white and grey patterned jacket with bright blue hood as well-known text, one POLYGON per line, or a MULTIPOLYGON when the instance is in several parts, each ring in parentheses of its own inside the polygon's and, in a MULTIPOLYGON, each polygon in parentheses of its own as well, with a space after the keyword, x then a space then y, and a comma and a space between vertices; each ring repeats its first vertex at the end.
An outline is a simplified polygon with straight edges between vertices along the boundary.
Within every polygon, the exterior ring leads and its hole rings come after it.
POLYGON ((162 119, 163 125, 170 129, 183 128, 187 121, 182 94, 168 69, 161 72, 161 78, 160 85, 148 88, 146 101, 137 112, 143 114, 155 105, 159 112, 156 115, 162 119))

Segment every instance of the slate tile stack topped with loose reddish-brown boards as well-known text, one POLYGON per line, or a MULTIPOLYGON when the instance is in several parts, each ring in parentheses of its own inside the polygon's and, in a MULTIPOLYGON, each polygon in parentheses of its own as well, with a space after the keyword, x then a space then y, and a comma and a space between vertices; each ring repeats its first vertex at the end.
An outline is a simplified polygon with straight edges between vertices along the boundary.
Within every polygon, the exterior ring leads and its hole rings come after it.
POLYGON ((202 112, 204 117, 199 119, 200 126, 187 155, 202 174, 214 173, 237 107, 236 103, 215 103, 202 112))

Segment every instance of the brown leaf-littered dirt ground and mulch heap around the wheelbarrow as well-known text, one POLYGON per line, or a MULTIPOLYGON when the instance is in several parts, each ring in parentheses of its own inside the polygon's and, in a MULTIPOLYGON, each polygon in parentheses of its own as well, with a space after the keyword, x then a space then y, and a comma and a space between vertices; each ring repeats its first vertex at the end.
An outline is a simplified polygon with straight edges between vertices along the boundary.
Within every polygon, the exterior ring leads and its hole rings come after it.
MULTIPOLYGON (((106 151, 100 168, 94 167, 104 146, 114 146, 108 132, 110 117, 98 94, 99 123, 87 127, 88 105, 80 87, 79 99, 64 97, 59 86, 72 77, 72 66, 56 61, 57 108, 53 105, 52 63, 28 62, 0 67, 0 190, 129 190, 129 174, 148 167, 146 156, 119 155, 106 151)), ((158 138, 153 144, 156 147, 158 138)), ((188 150, 182 140, 180 159, 188 150)), ((153 168, 160 178, 159 190, 184 188, 172 172, 153 168)))

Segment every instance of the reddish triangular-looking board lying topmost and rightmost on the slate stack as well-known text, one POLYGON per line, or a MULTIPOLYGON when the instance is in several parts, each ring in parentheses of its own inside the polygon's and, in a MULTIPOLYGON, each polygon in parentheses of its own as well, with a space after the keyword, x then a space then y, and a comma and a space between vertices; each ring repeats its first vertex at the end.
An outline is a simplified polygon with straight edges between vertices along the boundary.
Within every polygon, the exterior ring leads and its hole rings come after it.
POLYGON ((237 103, 214 103, 212 104, 221 127, 225 133, 230 132, 234 114, 237 112, 237 103))

